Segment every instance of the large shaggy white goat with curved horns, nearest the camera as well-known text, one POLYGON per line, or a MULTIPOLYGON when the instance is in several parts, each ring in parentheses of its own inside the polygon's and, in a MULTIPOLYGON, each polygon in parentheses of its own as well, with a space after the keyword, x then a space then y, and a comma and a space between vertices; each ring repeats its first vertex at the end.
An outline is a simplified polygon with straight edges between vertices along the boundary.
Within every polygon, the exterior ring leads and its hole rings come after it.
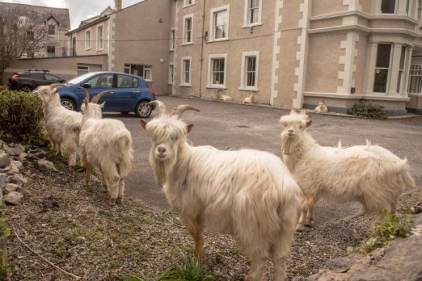
POLYGON ((236 238, 251 260, 245 280, 263 280, 268 256, 274 280, 286 280, 285 261, 293 240, 301 191, 281 159, 258 150, 222 151, 186 142, 193 124, 180 120, 180 105, 168 115, 160 101, 158 118, 141 119, 153 141, 149 160, 167 200, 203 254, 203 226, 236 238))

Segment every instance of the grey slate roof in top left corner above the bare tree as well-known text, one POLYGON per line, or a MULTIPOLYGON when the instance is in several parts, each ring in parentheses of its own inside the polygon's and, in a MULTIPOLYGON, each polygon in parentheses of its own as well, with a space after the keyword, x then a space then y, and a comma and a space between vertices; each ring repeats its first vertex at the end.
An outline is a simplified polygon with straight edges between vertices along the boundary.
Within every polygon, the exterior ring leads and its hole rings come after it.
POLYGON ((45 6, 34 6, 26 4, 15 4, 15 3, 4 3, 0 2, 0 9, 6 7, 19 7, 22 9, 22 15, 25 16, 29 13, 38 13, 40 17, 47 20, 50 17, 53 17, 60 26, 60 29, 70 30, 70 15, 68 8, 51 8, 45 6))

